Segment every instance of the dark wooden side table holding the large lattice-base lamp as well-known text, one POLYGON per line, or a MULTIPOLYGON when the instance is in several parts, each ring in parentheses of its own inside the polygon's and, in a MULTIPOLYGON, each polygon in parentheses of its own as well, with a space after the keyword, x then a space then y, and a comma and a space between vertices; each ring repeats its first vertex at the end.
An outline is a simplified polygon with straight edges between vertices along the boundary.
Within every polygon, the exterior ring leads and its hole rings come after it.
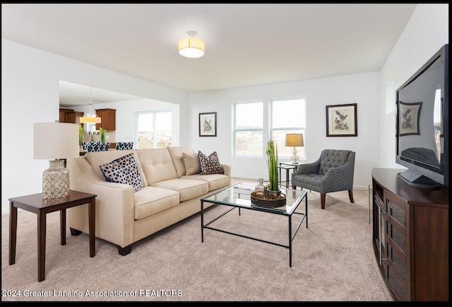
POLYGON ((95 256, 95 194, 71 190, 69 196, 42 199, 42 193, 9 199, 9 265, 16 263, 17 208, 37 214, 37 281, 45 278, 46 215, 60 211, 61 245, 66 244, 66 209, 88 203, 90 257, 95 256))

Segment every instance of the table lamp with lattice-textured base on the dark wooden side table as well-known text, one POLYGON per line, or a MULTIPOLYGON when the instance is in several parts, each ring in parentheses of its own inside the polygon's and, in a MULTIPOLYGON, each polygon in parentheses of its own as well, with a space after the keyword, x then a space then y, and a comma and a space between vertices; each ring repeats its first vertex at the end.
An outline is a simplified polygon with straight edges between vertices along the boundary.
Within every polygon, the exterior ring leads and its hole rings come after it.
POLYGON ((33 123, 33 158, 49 160, 49 168, 42 173, 43 199, 69 196, 66 158, 78 154, 77 124, 33 123))

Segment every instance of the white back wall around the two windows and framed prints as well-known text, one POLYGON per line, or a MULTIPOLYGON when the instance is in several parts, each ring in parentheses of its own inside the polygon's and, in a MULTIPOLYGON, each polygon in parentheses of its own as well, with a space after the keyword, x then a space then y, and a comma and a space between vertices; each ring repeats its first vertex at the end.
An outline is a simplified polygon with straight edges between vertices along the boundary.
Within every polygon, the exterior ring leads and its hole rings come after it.
MULTIPOLYGON (((264 154, 261 158, 232 156, 232 106, 234 101, 262 99, 264 117, 267 119, 268 101, 288 96, 305 96, 307 101, 307 128, 304 135, 307 160, 300 162, 316 161, 323 149, 355 151, 354 186, 367 189, 371 184, 371 169, 379 166, 379 73, 190 94, 189 124, 190 130, 194 132, 190 134, 191 146, 206 154, 217 151, 220 162, 231 165, 234 177, 268 177, 264 154), (326 106, 335 104, 357 104, 357 137, 326 137, 326 106), (198 137, 198 113, 204 112, 217 112, 217 137, 198 137)), ((264 131, 268 129, 266 122, 268 120, 264 120, 264 131)), ((264 132, 264 144, 267 140, 268 135, 264 132)))

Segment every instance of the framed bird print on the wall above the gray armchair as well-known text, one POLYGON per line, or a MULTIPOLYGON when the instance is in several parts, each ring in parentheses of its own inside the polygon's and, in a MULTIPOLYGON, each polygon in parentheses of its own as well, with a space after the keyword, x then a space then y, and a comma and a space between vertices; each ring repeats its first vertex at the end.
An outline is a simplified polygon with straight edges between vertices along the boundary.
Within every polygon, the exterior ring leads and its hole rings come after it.
POLYGON ((357 137, 357 104, 326 106, 327 137, 357 137))

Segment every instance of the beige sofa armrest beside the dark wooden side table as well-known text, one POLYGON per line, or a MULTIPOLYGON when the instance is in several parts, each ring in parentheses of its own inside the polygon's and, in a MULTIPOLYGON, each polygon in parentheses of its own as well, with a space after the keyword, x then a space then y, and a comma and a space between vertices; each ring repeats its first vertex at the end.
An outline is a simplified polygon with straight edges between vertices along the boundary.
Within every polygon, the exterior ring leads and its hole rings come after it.
MULTIPOLYGON (((133 187, 101 180, 83 157, 68 159, 67 168, 71 189, 97 195, 96 237, 122 247, 132 244, 135 216, 133 187)), ((68 226, 88 233, 87 212, 85 206, 70 208, 68 226)))

